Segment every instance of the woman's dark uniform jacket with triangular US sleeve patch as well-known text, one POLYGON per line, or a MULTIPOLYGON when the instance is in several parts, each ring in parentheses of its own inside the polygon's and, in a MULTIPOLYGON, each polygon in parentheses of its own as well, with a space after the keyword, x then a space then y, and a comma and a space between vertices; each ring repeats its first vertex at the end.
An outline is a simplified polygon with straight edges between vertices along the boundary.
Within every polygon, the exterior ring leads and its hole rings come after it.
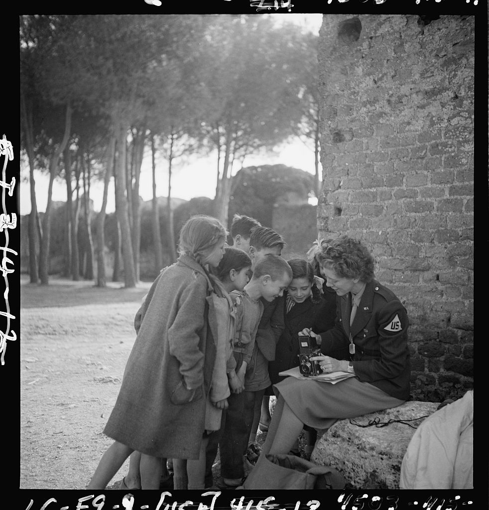
POLYGON ((355 345, 355 375, 392 397, 409 399, 410 356, 407 346, 406 309, 387 287, 377 281, 366 284, 350 328, 351 294, 337 297, 337 319, 321 335, 321 352, 336 357, 348 349, 350 332, 355 345))

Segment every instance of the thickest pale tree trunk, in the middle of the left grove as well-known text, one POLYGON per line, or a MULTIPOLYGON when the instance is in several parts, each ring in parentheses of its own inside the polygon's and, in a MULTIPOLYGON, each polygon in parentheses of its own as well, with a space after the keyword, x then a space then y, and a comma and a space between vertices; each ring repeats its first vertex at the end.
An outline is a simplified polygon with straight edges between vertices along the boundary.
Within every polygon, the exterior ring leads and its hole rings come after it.
POLYGON ((124 264, 124 287, 136 287, 136 271, 134 269, 133 246, 131 243, 131 227, 127 211, 126 191, 126 127, 119 122, 117 128, 118 157, 115 172, 117 174, 115 189, 115 210, 120 225, 122 260, 124 264))

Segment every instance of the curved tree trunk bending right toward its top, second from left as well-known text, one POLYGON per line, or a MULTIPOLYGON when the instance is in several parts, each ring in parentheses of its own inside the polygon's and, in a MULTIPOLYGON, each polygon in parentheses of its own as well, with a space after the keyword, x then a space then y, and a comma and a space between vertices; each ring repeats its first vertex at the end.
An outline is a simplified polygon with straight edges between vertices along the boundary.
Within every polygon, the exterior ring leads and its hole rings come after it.
POLYGON ((68 138, 71 130, 71 105, 68 103, 66 106, 65 116, 65 132, 61 143, 56 148, 51 161, 49 162, 49 186, 47 190, 47 204, 46 212, 44 213, 43 219, 43 237, 41 240, 41 253, 39 257, 39 277, 42 285, 49 284, 49 244, 50 244, 50 233, 49 228, 51 225, 51 210, 53 206, 53 183, 58 169, 58 161, 61 153, 68 143, 68 138))

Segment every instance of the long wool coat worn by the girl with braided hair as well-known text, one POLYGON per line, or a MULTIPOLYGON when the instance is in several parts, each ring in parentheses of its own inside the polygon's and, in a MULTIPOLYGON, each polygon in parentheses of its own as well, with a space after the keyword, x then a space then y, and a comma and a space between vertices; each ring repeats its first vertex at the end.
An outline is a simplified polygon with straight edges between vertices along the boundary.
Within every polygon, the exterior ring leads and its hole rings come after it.
POLYGON ((141 325, 107 436, 156 457, 199 457, 216 356, 213 291, 208 274, 188 256, 160 273, 137 314, 141 325), (203 396, 174 404, 170 397, 182 380, 203 396))

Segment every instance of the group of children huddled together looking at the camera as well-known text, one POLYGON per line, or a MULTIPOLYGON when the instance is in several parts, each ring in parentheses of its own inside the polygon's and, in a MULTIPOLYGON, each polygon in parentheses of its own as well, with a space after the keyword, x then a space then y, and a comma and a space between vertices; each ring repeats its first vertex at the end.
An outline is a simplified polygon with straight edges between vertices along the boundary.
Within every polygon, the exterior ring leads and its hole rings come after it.
MULTIPOLYGON (((279 234, 238 215, 233 246, 226 235, 210 216, 183 226, 177 262, 136 314, 136 341, 104 429, 114 443, 87 489, 104 489, 130 455, 121 489, 159 489, 167 460, 174 489, 209 488, 218 450, 218 488, 240 486, 260 455, 256 434, 270 422, 272 385, 298 365, 299 331, 333 326, 336 293, 315 263, 319 244, 308 261, 286 261, 279 234)), ((311 449, 315 430, 304 428, 311 449)))

